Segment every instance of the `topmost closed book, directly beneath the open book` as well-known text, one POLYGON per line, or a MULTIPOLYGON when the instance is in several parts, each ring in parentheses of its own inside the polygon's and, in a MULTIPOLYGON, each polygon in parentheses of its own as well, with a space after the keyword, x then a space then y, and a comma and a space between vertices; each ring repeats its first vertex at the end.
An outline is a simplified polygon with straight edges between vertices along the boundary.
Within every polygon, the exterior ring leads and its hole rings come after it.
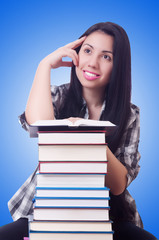
POLYGON ((41 144, 92 144, 105 143, 105 131, 102 132, 39 132, 38 142, 41 144))

